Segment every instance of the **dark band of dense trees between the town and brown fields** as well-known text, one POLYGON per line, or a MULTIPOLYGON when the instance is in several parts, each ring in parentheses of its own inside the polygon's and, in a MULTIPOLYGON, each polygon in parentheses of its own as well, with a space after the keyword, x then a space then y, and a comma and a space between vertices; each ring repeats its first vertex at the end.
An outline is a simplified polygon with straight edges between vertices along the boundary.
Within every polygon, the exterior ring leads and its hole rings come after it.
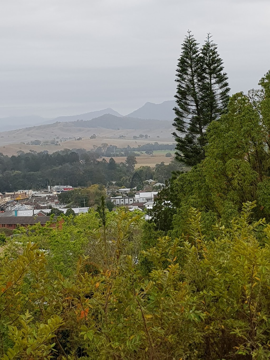
MULTIPOLYGON (((112 145, 110 145, 112 147, 112 145)), ((118 186, 129 187, 136 157, 136 148, 114 148, 115 154, 108 152, 108 144, 97 147, 94 151, 85 149, 65 149, 49 154, 48 152, 20 152, 17 156, 4 156, 0 154, 0 191, 14 191, 19 189, 42 189, 48 185, 70 184, 72 186, 90 186, 92 184, 107 185, 111 181, 117 181, 118 186), (118 151, 119 150, 119 151, 118 151), (126 161, 116 163, 114 155, 125 153, 126 161), (109 154, 111 159, 107 162, 98 158, 109 154)), ((113 147, 112 147, 113 148, 113 147)), ((147 144, 141 147, 141 151, 153 151, 156 149, 171 150, 174 145, 147 144), (144 150, 143 150, 144 149, 144 150), (150 150, 149 150, 150 149, 150 150)), ((140 147, 139 147, 140 149, 140 147)), ((154 179, 163 183, 170 177, 172 171, 183 169, 183 165, 172 160, 169 165, 163 162, 154 168, 142 166, 136 172, 142 181, 154 179)))

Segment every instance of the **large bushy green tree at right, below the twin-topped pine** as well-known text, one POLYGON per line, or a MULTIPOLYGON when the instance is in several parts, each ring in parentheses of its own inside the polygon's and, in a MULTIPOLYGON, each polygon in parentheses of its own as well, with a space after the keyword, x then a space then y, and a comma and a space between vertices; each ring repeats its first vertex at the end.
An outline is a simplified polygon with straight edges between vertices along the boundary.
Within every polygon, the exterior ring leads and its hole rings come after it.
POLYGON ((188 209, 194 207, 202 212, 207 236, 212 238, 213 221, 228 226, 242 203, 254 200, 258 204, 254 220, 270 221, 269 84, 270 72, 260 81, 259 90, 231 96, 227 112, 208 127, 206 158, 175 176, 166 194, 161 192, 153 218, 158 228, 180 236, 186 231, 188 209), (175 209, 171 224, 161 206, 165 199, 175 209))

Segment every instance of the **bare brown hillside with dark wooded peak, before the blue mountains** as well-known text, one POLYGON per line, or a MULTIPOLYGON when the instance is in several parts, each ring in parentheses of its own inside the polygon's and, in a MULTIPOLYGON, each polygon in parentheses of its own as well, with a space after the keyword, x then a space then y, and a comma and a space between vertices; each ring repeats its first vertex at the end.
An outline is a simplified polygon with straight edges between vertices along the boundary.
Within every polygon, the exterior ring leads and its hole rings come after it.
MULTIPOLYGON (((133 139, 133 136, 147 134, 151 138, 171 139, 172 125, 169 121, 142 120, 131 117, 119 117, 112 114, 104 114, 93 120, 76 120, 69 122, 54 122, 39 126, 27 127, 12 131, 0 132, 0 146, 16 143, 30 143, 32 140, 40 140, 48 144, 51 140, 54 143, 64 144, 66 139, 80 137, 89 139, 95 134, 98 138, 133 139)), ((79 144, 78 144, 79 146, 79 144)), ((42 145, 41 145, 42 147, 42 145)), ((57 149, 55 149, 56 151, 57 149)))

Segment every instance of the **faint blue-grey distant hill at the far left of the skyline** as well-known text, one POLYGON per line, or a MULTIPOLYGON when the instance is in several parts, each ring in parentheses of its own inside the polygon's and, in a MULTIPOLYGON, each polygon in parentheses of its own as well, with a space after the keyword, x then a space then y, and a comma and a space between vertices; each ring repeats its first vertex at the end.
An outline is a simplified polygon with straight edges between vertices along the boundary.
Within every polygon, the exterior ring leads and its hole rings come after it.
POLYGON ((39 125, 47 121, 51 120, 37 115, 9 116, 0 118, 0 129, 1 131, 22 129, 23 127, 39 125))

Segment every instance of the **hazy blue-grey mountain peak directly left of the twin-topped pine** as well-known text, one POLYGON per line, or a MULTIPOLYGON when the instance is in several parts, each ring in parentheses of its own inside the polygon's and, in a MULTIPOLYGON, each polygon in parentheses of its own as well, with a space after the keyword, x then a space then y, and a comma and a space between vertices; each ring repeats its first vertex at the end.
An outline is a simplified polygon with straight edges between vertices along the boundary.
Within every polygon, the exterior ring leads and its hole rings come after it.
POLYGON ((140 119, 157 119, 173 121, 175 114, 172 110, 175 107, 174 100, 164 101, 161 104, 145 103, 141 108, 127 114, 127 117, 140 119))

